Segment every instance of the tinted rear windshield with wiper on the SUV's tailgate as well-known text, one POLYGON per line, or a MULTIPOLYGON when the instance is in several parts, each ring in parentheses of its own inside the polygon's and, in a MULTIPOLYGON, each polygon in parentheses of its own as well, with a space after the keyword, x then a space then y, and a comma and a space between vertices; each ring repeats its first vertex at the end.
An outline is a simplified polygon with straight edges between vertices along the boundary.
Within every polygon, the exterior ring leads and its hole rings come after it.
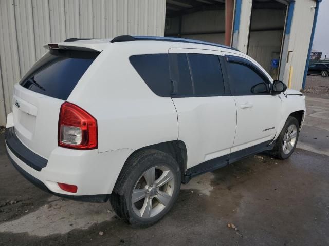
POLYGON ((22 78, 20 85, 34 92, 67 100, 99 52, 50 50, 22 78))

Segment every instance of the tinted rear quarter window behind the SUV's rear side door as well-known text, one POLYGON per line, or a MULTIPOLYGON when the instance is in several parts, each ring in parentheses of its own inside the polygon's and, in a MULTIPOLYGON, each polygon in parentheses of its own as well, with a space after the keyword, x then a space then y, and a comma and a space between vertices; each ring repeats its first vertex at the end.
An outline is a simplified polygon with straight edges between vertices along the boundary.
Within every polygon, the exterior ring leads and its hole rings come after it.
POLYGON ((155 94, 170 96, 168 54, 133 55, 129 60, 139 76, 155 94))

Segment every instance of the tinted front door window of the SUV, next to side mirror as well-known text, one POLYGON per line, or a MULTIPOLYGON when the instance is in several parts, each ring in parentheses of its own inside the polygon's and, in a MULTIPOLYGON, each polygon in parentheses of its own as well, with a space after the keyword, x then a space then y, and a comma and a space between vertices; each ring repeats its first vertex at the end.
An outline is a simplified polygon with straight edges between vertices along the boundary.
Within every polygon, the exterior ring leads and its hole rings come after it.
POLYGON ((270 93, 267 78, 252 65, 237 62, 228 62, 227 65, 234 94, 264 95, 270 93))

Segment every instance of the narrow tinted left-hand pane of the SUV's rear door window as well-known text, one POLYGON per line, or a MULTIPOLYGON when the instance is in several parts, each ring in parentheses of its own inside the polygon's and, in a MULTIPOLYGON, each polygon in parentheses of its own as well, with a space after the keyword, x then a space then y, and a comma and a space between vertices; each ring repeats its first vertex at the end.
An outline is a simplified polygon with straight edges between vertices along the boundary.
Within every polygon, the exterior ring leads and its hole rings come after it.
POLYGON ((187 54, 170 54, 170 78, 177 95, 193 95, 192 79, 187 54))

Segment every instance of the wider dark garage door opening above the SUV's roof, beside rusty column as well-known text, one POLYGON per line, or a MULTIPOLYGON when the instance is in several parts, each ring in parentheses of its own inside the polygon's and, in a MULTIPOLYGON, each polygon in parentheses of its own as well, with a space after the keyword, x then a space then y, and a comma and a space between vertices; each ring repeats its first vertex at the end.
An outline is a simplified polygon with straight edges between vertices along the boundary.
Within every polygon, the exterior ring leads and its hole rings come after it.
MULTIPOLYGON (((228 9, 230 24, 233 2, 230 0, 228 9)), ((225 0, 167 0, 165 36, 225 44, 225 0)), ((231 30, 228 43, 231 43, 231 30)))

